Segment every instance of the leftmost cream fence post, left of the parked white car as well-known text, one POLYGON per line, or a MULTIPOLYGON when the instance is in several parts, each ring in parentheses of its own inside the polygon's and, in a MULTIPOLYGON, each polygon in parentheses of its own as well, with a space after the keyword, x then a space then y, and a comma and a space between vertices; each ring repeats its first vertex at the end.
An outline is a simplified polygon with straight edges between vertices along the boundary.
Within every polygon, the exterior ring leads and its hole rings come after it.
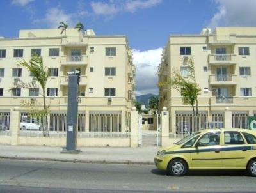
POLYGON ((19 144, 20 134, 20 111, 19 107, 11 110, 10 114, 10 130, 11 130, 11 145, 17 146, 19 144))

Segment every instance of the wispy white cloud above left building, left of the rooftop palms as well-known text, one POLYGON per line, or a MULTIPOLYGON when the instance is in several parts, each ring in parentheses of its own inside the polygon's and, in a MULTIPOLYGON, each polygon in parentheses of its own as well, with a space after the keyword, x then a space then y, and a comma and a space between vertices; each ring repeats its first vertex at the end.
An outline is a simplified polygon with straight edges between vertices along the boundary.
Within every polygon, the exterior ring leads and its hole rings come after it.
POLYGON ((61 10, 60 6, 56 8, 49 8, 43 19, 34 20, 35 23, 44 22, 47 26, 56 28, 60 22, 65 22, 69 27, 74 26, 74 15, 71 13, 65 13, 61 10))

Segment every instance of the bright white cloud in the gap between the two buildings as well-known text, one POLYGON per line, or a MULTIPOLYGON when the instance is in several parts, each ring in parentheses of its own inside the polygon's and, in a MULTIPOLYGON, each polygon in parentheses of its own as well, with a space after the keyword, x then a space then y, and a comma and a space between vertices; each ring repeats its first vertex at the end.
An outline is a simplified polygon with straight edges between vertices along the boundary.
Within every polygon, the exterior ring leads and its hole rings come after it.
POLYGON ((136 95, 153 93, 158 95, 156 75, 157 66, 161 63, 162 48, 147 50, 132 50, 133 62, 136 66, 136 95))

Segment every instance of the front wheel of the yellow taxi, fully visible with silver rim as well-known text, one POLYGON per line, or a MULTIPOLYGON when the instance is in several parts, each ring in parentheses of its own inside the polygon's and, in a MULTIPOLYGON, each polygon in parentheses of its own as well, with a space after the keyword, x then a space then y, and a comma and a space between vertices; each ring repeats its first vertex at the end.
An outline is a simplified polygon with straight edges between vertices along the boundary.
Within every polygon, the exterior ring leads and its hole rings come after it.
POLYGON ((168 164, 168 171, 172 176, 184 176, 188 171, 188 166, 183 160, 175 159, 168 164))

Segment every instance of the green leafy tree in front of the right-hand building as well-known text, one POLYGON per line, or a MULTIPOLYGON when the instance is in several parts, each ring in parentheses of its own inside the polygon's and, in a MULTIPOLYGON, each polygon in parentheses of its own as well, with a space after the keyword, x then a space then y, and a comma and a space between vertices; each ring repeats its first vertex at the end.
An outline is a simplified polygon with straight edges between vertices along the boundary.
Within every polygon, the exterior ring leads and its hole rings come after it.
POLYGON ((180 92, 184 104, 191 105, 193 114, 195 114, 196 104, 196 114, 198 114, 198 95, 201 89, 196 84, 195 66, 192 59, 189 59, 188 67, 190 72, 187 77, 182 76, 177 69, 173 69, 170 86, 180 92))

